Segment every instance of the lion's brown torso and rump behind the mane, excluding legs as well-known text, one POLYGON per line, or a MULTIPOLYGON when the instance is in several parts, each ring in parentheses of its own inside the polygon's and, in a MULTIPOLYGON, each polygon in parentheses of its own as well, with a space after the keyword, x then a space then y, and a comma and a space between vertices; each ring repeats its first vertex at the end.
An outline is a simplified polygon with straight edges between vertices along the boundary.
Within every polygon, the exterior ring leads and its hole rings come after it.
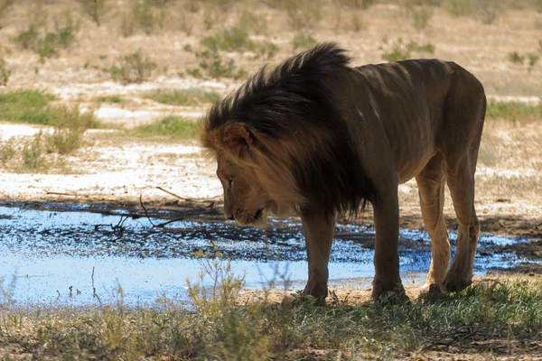
MULTIPOLYGON (((347 119, 355 127, 369 118, 371 122, 378 120, 370 128, 381 124, 400 182, 414 178, 437 151, 464 146, 460 139, 464 140, 465 134, 471 142, 480 139, 483 88, 471 73, 453 62, 405 60, 366 65, 345 69, 342 77, 344 81, 337 81, 337 89, 333 89, 340 95, 337 102, 344 113, 350 113, 347 119), (347 97, 342 96, 344 84, 352 88, 347 97), (458 118, 472 107, 477 108, 479 117, 458 118)), ((364 136, 359 134, 360 143, 364 136)), ((387 147, 382 144, 382 148, 387 147)))

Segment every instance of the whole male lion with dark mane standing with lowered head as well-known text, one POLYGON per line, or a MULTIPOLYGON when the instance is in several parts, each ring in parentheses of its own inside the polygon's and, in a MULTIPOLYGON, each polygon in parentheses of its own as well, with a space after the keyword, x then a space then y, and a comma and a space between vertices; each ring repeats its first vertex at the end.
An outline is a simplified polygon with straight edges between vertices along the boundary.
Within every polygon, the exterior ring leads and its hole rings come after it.
POLYGON ((376 227, 372 296, 400 295, 397 185, 414 177, 432 241, 425 291, 463 290, 480 230, 474 171, 483 87, 448 61, 358 68, 349 61, 337 45, 322 43, 272 71, 264 67, 211 106, 201 141, 218 160, 225 216, 260 225, 267 210, 299 212, 309 263, 304 294, 323 301, 335 220, 368 200, 376 227), (446 181, 459 219, 449 270, 446 181))

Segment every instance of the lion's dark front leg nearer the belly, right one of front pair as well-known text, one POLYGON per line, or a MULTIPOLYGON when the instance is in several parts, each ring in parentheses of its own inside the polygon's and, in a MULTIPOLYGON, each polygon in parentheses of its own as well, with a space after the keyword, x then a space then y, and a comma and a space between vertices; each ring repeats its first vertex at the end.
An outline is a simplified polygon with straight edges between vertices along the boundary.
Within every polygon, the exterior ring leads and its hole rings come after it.
POLYGON ((405 290, 399 277, 397 185, 379 190, 378 199, 372 202, 372 206, 376 229, 372 297, 374 300, 388 295, 404 298, 405 290))

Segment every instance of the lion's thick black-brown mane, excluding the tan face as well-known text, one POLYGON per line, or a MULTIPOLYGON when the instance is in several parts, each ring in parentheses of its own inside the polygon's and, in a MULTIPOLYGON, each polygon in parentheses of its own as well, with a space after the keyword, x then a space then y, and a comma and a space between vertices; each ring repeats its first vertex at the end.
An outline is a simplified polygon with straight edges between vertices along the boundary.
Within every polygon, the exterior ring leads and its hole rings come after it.
POLYGON ((335 74, 347 69, 350 58, 345 52, 333 42, 321 43, 272 71, 260 69, 210 107, 203 139, 226 125, 246 125, 255 130, 255 145, 271 163, 284 164, 274 157, 289 157, 286 163, 293 169, 288 171, 307 200, 303 207, 340 215, 358 212, 375 190, 363 170, 350 125, 328 86, 335 74), (267 143, 257 143, 258 135, 267 143), (292 145, 276 154, 269 140, 288 140, 292 145))

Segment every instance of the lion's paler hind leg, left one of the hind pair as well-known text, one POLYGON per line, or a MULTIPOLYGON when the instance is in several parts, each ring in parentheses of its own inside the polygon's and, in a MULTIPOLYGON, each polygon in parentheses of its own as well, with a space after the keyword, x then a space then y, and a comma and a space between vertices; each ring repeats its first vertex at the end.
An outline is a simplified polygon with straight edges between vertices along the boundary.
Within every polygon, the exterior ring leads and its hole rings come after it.
POLYGON ((431 265, 427 281, 422 289, 426 293, 439 293, 444 281, 444 275, 450 263, 450 243, 448 231, 444 222, 444 157, 436 153, 416 175, 416 183, 420 197, 420 207, 424 218, 425 228, 431 237, 431 265))

